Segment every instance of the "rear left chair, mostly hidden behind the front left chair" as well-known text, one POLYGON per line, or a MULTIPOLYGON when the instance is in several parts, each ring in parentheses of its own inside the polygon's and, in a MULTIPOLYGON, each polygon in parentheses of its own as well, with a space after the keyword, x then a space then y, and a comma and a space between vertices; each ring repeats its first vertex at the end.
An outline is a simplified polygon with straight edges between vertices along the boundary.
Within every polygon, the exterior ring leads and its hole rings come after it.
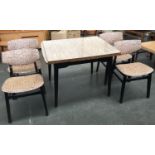
MULTIPOLYGON (((31 48, 31 49, 39 48, 38 40, 34 38, 24 38, 24 39, 16 39, 16 40, 8 41, 8 50, 18 50, 23 48, 31 48)), ((38 60, 36 64, 39 71, 41 72, 40 61, 38 60)), ((24 74, 35 72, 35 68, 33 64, 16 65, 16 66, 12 66, 13 74, 11 74, 9 68, 8 68, 8 72, 10 73, 10 76, 19 75, 19 74, 24 75, 24 74)))

